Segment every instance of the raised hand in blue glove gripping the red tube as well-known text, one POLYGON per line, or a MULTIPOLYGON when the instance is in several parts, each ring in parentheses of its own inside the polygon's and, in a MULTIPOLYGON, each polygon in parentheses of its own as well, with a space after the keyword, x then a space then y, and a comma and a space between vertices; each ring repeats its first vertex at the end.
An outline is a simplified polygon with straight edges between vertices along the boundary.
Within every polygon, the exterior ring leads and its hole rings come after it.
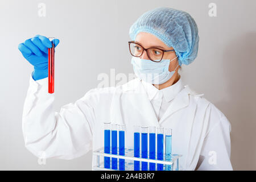
MULTIPOLYGON (((60 40, 53 39, 52 42, 56 47, 60 40)), ((34 80, 48 77, 48 48, 51 47, 51 41, 42 35, 36 35, 34 38, 27 39, 24 43, 19 44, 19 51, 34 66, 32 72, 34 80)))

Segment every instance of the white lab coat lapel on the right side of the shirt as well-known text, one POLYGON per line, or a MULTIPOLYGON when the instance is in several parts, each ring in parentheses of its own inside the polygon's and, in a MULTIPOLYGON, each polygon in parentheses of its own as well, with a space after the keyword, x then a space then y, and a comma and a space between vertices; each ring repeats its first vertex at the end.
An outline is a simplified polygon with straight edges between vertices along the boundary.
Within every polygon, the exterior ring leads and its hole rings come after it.
POLYGON ((165 111, 163 117, 160 119, 159 123, 161 124, 165 119, 170 117, 173 113, 175 113, 177 110, 183 109, 184 107, 188 106, 189 104, 189 96, 188 94, 190 89, 188 86, 185 86, 183 90, 181 90, 177 96, 174 98, 174 101, 171 103, 171 105, 167 108, 165 111))

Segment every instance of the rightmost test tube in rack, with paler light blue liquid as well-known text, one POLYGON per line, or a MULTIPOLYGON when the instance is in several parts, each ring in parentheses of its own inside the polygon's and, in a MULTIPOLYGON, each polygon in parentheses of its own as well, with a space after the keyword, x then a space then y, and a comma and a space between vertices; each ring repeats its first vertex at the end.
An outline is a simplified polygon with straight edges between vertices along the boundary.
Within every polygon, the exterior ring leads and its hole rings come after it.
MULTIPOLYGON (((166 128, 165 129, 165 136, 166 136, 166 160, 171 161, 172 155, 172 129, 166 128)), ((165 167, 166 171, 172 171, 172 165, 167 165, 165 167)))

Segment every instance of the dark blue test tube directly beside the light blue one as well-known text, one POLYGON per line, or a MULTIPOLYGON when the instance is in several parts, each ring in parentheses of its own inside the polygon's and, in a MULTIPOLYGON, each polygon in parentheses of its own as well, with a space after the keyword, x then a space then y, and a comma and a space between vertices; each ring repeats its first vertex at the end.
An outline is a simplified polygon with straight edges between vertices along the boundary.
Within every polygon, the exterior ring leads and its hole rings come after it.
MULTIPOLYGON (((157 158, 158 160, 163 160, 163 127, 157 127, 157 158)), ((163 164, 158 164, 157 165, 158 171, 163 171, 163 164)))

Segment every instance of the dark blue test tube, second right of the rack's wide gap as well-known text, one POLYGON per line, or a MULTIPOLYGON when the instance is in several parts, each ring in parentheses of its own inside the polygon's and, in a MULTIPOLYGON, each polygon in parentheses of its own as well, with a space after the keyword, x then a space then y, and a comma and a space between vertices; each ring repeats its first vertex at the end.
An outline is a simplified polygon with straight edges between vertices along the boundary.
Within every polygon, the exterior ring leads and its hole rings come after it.
MULTIPOLYGON (((148 127, 141 127, 141 157, 144 159, 148 158, 147 154, 147 133, 148 133, 148 127)), ((147 162, 141 163, 142 171, 147 171, 147 162)))

